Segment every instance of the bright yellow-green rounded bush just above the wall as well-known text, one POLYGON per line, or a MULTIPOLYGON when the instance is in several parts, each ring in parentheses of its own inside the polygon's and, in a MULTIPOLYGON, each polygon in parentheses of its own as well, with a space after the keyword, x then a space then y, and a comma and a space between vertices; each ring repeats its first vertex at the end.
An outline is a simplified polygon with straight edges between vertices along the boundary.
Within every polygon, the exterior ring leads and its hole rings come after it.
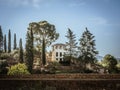
POLYGON ((27 66, 25 64, 16 64, 11 66, 8 71, 8 75, 26 75, 30 74, 27 70, 27 66))

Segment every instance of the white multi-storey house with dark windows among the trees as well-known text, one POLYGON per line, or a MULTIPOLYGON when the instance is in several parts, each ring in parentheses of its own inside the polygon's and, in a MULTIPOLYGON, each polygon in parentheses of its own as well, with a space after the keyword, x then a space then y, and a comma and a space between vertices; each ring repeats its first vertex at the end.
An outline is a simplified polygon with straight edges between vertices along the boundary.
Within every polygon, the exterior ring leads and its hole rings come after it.
POLYGON ((62 61, 66 53, 66 45, 57 43, 52 46, 52 61, 62 61))

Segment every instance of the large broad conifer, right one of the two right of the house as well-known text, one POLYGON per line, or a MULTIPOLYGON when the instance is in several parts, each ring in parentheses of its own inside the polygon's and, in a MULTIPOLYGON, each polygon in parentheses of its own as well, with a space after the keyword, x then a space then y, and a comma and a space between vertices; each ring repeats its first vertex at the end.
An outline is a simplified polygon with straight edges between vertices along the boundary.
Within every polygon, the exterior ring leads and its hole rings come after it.
POLYGON ((80 38, 80 57, 81 64, 83 68, 86 68, 87 64, 94 64, 96 62, 96 44, 92 33, 86 28, 83 32, 82 37, 80 38))

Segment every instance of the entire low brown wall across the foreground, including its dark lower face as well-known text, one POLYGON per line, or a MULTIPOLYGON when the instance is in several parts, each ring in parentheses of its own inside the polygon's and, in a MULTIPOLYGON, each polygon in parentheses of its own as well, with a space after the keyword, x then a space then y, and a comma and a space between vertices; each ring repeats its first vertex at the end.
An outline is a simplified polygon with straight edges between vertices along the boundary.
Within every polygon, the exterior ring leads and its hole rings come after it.
POLYGON ((120 90, 120 75, 0 75, 0 90, 120 90))

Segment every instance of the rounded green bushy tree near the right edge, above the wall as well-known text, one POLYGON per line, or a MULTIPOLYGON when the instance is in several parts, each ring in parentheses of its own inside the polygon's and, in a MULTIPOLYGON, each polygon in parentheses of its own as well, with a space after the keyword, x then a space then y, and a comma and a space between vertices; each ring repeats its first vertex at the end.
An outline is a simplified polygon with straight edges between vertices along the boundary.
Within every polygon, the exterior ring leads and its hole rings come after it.
POLYGON ((102 60, 102 65, 108 69, 109 73, 116 73, 117 72, 117 68, 116 68, 117 59, 110 54, 107 54, 104 56, 104 58, 102 60))

